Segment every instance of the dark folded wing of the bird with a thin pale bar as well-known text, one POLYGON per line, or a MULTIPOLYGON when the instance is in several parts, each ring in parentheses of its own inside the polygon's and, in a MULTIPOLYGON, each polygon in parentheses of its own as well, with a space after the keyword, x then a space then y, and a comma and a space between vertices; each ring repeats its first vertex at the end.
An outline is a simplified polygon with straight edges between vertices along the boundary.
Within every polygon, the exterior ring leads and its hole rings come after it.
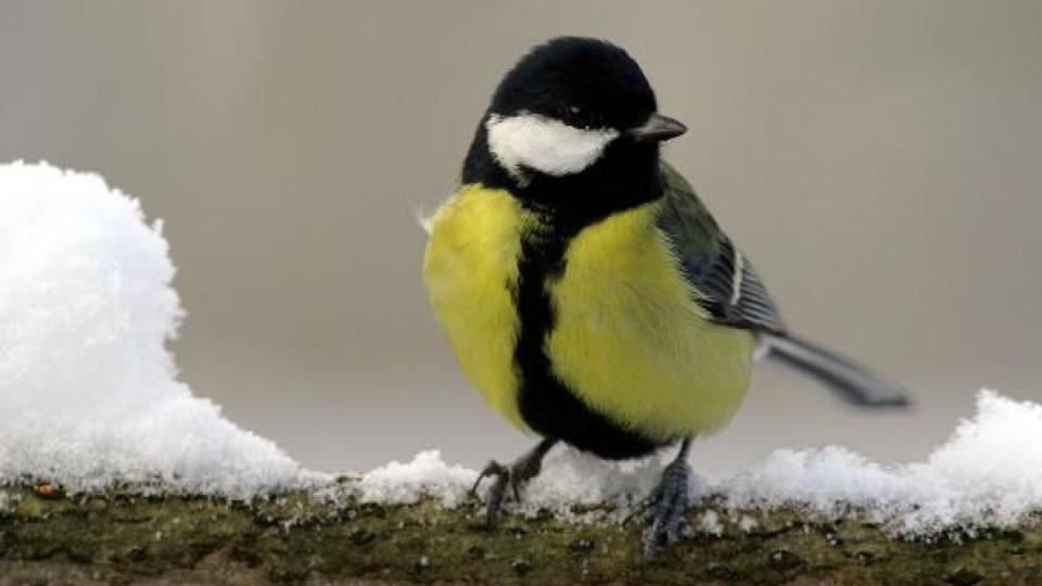
POLYGON ((785 322, 749 259, 732 244, 695 190, 662 163, 665 191, 658 227, 673 245, 699 305, 713 321, 734 328, 782 333, 785 322))

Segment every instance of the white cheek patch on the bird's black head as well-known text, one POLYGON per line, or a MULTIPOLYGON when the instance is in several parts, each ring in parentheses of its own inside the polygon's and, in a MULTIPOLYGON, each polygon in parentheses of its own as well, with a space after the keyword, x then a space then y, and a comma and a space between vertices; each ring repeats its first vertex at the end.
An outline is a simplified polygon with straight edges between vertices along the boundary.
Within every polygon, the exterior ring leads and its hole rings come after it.
POLYGON ((619 137, 609 128, 584 130, 537 114, 493 114, 485 129, 488 150, 513 176, 520 176, 522 166, 555 177, 580 173, 619 137))

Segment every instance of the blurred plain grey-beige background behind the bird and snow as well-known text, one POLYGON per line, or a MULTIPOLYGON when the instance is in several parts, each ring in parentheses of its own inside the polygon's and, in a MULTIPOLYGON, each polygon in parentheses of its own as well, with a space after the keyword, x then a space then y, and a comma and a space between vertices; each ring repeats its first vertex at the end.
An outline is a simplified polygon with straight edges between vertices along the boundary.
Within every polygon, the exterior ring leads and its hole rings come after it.
MULTIPOLYGON (((166 220, 185 380, 323 470, 530 440, 463 381, 416 208, 503 72, 625 47, 692 131, 668 156, 802 334, 915 392, 853 411, 761 367, 694 461, 923 457, 990 385, 1042 400, 1042 3, 0 0, 0 161, 94 170, 166 220)), ((0 211, 2 213, 2 211, 0 211)))

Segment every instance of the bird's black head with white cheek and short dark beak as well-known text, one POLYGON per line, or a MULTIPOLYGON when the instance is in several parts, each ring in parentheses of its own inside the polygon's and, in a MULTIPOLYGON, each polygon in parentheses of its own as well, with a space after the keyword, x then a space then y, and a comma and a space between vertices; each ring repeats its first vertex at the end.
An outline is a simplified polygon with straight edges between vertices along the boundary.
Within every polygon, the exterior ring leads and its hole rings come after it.
POLYGON ((560 37, 500 81, 471 144, 465 182, 507 188, 542 208, 598 213, 656 199, 659 142, 684 133, 625 51, 560 37))

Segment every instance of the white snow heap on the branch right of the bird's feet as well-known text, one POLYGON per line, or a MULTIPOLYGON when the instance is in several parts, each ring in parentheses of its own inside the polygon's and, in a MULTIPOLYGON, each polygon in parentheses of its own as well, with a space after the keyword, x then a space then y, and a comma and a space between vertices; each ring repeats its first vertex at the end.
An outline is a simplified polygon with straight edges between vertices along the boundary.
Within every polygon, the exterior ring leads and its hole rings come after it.
POLYGON ((719 488, 733 507, 854 506, 913 535, 1014 525, 1042 510, 1042 405, 984 390, 977 415, 925 462, 882 466, 835 446, 782 449, 719 488))

